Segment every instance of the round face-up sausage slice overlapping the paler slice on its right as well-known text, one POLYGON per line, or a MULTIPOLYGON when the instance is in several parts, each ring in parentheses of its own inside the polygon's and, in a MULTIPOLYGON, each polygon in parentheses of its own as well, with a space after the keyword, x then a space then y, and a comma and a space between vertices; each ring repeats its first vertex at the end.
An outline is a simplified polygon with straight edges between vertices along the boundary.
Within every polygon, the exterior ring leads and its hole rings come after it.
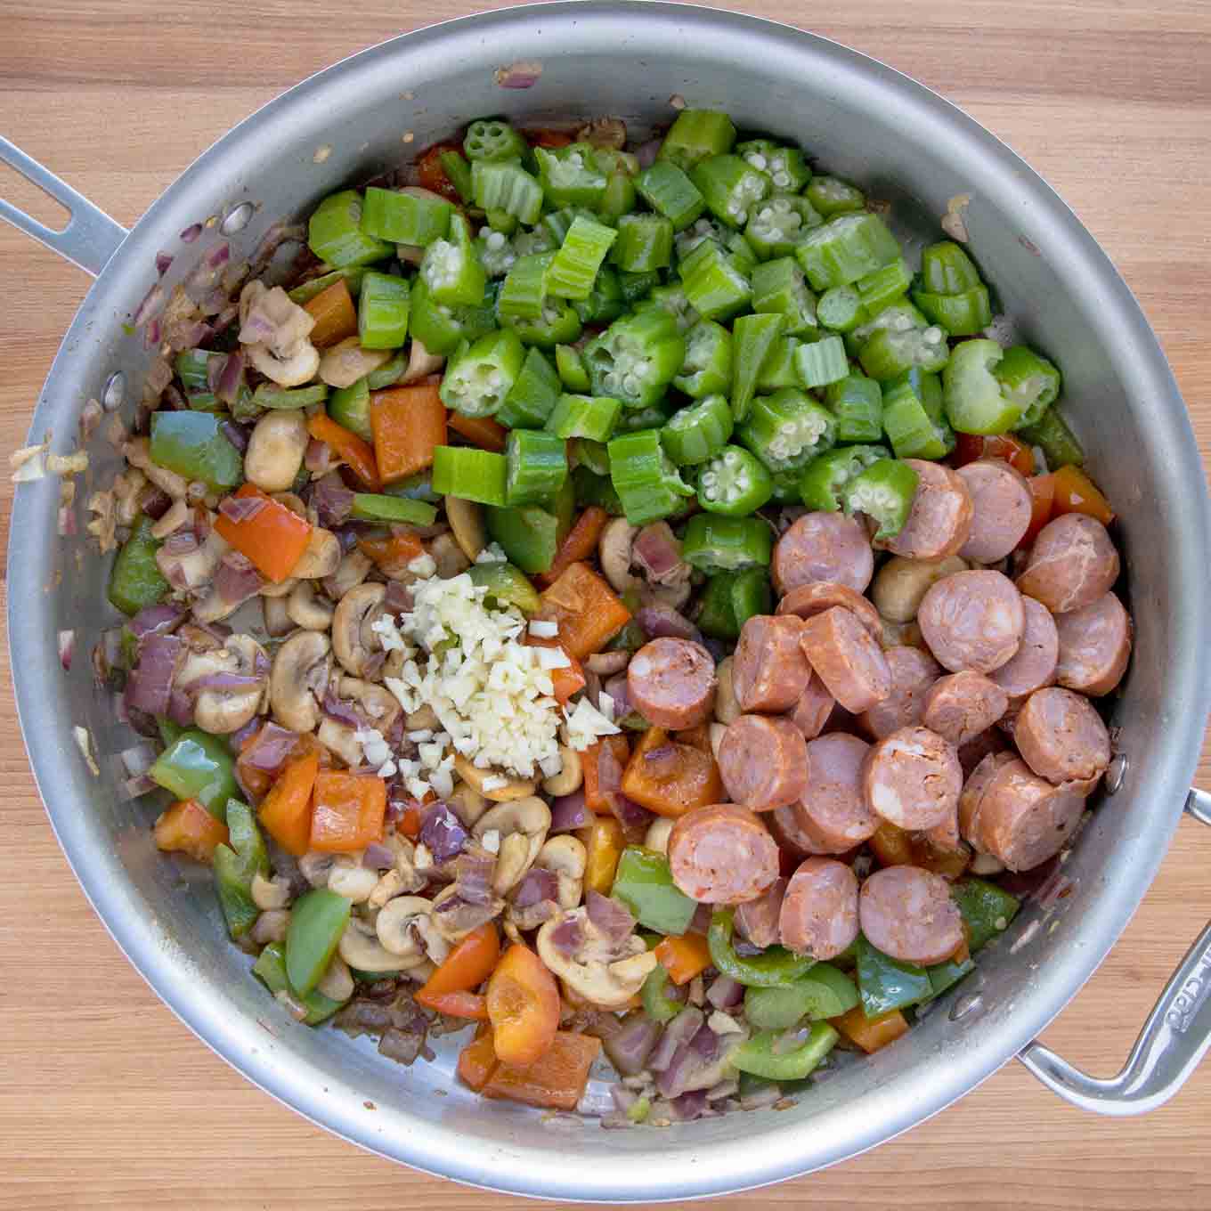
POLYGON ((955 572, 934 585, 917 621, 929 650, 952 673, 991 673, 1021 647, 1026 610, 1009 576, 978 569, 955 572))

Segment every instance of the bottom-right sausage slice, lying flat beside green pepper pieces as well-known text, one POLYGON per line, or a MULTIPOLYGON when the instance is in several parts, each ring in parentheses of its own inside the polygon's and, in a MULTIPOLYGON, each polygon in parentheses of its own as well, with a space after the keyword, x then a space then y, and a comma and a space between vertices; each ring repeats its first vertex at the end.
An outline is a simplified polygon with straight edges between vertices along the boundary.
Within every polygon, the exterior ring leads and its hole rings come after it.
POLYGON ((862 884, 857 911, 871 945, 901 963, 941 963, 963 942, 963 918, 949 884, 919 866, 876 871, 862 884))

